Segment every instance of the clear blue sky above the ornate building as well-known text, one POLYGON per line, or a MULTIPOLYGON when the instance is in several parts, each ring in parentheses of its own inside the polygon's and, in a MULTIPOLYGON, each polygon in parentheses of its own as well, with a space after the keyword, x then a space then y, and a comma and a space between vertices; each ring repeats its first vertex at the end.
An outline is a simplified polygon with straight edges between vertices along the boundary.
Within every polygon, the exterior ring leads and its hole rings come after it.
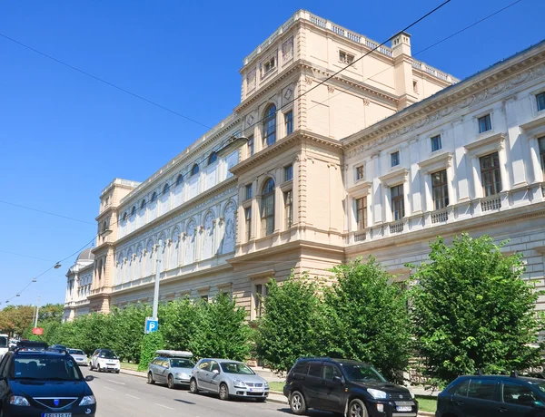
MULTIPOLYGON (((511 2, 452 0, 411 29, 413 53, 511 2)), ((440 3, 5 1, 0 33, 213 126, 240 101, 243 57, 297 9, 382 41, 440 3)), ((522 0, 417 59, 465 78, 540 42, 542 16, 542 0, 522 0)), ((109 181, 146 179, 204 131, 0 38, 1 200, 92 222, 109 181)), ((94 232, 0 203, 0 308, 94 232)), ((14 301, 64 302, 72 261, 14 301)))

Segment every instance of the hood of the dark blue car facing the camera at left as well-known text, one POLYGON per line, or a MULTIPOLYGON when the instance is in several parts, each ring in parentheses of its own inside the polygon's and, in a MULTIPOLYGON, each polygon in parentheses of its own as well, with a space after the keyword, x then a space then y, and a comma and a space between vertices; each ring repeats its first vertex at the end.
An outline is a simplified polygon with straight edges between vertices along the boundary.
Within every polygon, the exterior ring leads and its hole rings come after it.
POLYGON ((93 395, 85 381, 35 381, 11 380, 10 385, 15 395, 27 397, 82 397, 93 395))

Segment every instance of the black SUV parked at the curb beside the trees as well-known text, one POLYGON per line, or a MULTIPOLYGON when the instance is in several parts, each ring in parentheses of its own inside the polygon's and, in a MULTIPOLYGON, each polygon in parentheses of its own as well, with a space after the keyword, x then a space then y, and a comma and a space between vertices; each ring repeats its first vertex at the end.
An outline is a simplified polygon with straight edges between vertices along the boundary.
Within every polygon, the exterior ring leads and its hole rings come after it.
POLYGON ((297 360, 283 393, 295 414, 308 408, 351 417, 414 417, 418 412, 407 388, 387 382, 369 364, 345 359, 297 360))

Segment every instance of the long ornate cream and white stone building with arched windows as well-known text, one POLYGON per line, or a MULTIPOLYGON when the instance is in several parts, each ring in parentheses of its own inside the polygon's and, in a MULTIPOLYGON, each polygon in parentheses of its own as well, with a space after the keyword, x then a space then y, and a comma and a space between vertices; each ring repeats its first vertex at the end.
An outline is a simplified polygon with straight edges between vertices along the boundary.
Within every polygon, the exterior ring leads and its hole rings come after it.
POLYGON ((409 34, 377 46, 292 15, 244 58, 232 114, 104 188, 64 318, 151 303, 158 272, 163 301, 226 292, 254 319, 270 278, 373 255, 402 281, 463 231, 509 238, 545 286, 545 42, 464 81, 414 60, 409 34))

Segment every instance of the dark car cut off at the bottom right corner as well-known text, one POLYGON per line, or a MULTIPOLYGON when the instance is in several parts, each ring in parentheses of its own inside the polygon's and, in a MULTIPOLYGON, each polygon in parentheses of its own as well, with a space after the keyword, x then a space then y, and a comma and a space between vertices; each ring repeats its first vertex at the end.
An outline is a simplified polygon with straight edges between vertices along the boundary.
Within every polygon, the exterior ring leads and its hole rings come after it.
POLYGON ((511 375, 459 376, 437 397, 436 417, 545 417, 545 381, 511 375))

